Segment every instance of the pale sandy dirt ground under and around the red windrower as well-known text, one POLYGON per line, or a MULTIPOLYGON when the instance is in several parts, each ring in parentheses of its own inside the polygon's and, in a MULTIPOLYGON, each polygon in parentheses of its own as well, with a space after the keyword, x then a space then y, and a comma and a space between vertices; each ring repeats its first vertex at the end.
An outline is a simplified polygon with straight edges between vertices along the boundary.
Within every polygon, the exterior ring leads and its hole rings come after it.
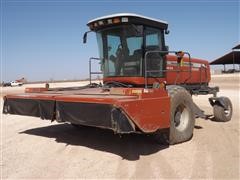
MULTIPOLYGON (((1 114, 1 177, 239 179, 239 80, 239 75, 212 78, 212 85, 221 88, 219 95, 232 100, 230 122, 197 119, 193 138, 169 147, 144 135, 120 138, 108 130, 1 114)), ((50 84, 70 85, 78 84, 50 84)), ((21 92, 26 86, 32 85, 3 88, 1 95, 21 92)), ((194 101, 212 114, 208 97, 194 97, 194 101)))

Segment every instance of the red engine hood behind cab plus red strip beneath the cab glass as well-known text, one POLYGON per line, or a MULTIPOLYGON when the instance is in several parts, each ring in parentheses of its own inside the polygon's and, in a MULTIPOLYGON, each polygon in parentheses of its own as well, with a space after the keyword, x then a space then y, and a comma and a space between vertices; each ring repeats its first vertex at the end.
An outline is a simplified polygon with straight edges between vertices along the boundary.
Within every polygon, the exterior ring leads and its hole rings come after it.
MULTIPOLYGON (((183 58, 182 66, 177 64, 176 56, 168 55, 166 56, 166 60, 167 72, 165 77, 148 78, 148 84, 164 81, 167 84, 199 84, 208 83, 210 81, 210 67, 208 61, 192 58, 190 67, 189 58, 187 57, 183 58)), ((143 85, 145 82, 144 77, 106 77, 103 81, 119 81, 123 83, 134 83, 136 85, 143 85)))

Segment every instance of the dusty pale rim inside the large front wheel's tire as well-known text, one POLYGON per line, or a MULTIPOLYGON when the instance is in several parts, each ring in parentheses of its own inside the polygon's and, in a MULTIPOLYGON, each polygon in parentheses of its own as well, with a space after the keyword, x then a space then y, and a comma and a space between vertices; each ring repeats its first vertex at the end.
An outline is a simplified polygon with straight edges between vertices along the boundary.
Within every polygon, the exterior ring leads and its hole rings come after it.
POLYGON ((176 108, 174 115, 174 125, 175 128, 179 131, 184 131, 190 120, 190 112, 187 107, 183 104, 179 105, 176 108))

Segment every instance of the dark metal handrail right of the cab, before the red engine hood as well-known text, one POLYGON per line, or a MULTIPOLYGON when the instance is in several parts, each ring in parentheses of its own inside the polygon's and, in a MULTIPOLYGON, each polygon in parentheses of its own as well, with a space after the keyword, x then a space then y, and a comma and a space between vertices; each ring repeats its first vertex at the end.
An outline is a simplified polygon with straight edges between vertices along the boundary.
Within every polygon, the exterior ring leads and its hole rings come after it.
MULTIPOLYGON (((173 70, 147 70, 147 56, 151 53, 161 53, 161 54, 169 54, 169 53, 178 53, 178 51, 160 51, 160 50, 152 50, 152 51, 147 51, 144 55, 144 84, 145 84, 145 88, 148 88, 148 84, 147 84, 147 73, 149 72, 170 72, 173 70)), ((191 55, 188 52, 183 52, 184 54, 187 54, 189 57, 189 71, 184 71, 184 72, 189 72, 189 77, 185 80, 187 81, 189 78, 191 78, 191 74, 192 74, 192 62, 191 62, 191 55)), ((180 70, 177 70, 176 72, 180 72, 180 70)), ((178 77, 178 76, 177 76, 178 77)), ((177 79, 177 78, 176 78, 177 79)), ((176 83, 176 81, 175 81, 176 83)))

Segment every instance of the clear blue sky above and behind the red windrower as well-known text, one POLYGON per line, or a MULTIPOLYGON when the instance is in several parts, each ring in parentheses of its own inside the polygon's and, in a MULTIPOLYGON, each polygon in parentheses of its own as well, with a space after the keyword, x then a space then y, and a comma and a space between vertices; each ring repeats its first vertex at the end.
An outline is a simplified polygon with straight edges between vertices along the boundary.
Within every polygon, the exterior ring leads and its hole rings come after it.
POLYGON ((1 0, 1 80, 88 77, 98 56, 95 35, 82 36, 98 16, 129 12, 166 20, 170 50, 209 61, 239 43, 239 1, 1 0))

